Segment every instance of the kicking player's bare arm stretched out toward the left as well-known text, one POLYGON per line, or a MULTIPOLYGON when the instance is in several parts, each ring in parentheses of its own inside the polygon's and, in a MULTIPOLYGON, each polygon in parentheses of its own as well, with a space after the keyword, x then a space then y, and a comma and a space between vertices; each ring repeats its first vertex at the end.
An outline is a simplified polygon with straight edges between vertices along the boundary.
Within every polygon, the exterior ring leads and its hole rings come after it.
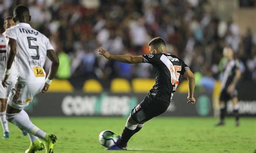
POLYGON ((107 59, 117 60, 120 62, 126 62, 129 64, 143 62, 142 56, 133 56, 133 55, 111 55, 109 52, 105 51, 103 48, 99 48, 98 52, 100 55, 103 55, 107 59))

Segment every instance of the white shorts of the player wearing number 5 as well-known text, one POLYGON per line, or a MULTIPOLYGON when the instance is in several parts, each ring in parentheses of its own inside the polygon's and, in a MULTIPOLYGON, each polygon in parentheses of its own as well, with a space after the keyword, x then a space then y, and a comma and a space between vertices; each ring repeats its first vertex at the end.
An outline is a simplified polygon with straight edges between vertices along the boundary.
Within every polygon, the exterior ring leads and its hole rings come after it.
POLYGON ((7 101, 8 105, 16 109, 23 109, 29 105, 33 96, 42 91, 44 84, 44 82, 28 84, 17 81, 15 86, 11 89, 11 93, 7 101))

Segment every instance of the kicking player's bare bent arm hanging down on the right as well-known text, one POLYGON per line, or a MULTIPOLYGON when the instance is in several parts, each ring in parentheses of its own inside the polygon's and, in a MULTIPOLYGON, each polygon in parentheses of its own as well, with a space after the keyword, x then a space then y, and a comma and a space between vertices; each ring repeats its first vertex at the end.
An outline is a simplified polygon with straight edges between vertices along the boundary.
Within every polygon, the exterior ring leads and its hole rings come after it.
POLYGON ((187 78, 188 81, 188 96, 187 96, 187 103, 195 103, 196 99, 194 98, 194 74, 190 71, 190 69, 186 69, 184 73, 184 77, 187 78))

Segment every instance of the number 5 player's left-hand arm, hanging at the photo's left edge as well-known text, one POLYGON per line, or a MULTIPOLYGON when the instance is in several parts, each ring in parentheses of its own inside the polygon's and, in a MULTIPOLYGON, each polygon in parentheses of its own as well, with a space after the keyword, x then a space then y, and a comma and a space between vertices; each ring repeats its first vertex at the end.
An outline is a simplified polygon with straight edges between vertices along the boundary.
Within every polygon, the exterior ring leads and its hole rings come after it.
POLYGON ((10 48, 10 52, 7 55, 5 74, 4 74, 4 78, 2 80, 3 87, 7 87, 7 85, 9 85, 6 81, 9 78, 11 65, 14 62, 14 58, 15 58, 15 55, 17 53, 17 50, 16 50, 16 40, 9 38, 9 42, 8 42, 8 47, 7 48, 10 48))

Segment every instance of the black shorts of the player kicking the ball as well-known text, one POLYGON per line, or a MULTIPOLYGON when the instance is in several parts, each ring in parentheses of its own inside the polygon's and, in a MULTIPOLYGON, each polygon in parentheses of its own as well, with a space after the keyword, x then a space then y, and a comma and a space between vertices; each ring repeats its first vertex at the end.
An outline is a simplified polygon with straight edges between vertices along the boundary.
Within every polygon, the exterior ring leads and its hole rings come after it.
POLYGON ((170 103, 162 102, 147 94, 140 104, 132 109, 131 117, 137 123, 149 121, 153 117, 163 114, 170 103))

